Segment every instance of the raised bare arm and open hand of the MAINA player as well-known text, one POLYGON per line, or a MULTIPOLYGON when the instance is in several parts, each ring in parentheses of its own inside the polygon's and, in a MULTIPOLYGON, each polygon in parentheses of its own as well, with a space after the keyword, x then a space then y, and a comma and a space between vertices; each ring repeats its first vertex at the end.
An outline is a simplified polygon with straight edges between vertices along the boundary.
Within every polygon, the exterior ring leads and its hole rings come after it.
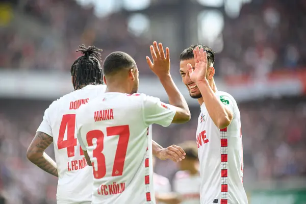
POLYGON ((170 75, 170 54, 169 48, 166 48, 166 57, 164 54, 164 49, 162 43, 159 43, 159 48, 157 42, 154 42, 150 46, 150 52, 153 59, 151 62, 149 57, 146 57, 147 63, 150 69, 157 75, 162 83, 168 98, 169 104, 175 109, 175 116, 173 118, 173 123, 184 123, 190 120, 190 111, 187 102, 179 91, 179 89, 174 84, 172 77, 170 75))

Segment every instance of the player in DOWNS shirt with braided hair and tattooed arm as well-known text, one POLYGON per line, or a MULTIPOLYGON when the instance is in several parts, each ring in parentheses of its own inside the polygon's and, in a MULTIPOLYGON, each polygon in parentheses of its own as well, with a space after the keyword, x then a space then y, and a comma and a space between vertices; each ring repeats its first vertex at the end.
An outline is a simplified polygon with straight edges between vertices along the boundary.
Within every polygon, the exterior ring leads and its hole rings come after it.
POLYGON ((103 94, 101 49, 79 46, 79 57, 71 66, 74 91, 55 100, 45 110, 43 120, 28 151, 28 159, 39 168, 59 177, 57 203, 91 203, 92 169, 87 166, 75 134, 75 113, 83 104, 103 94), (54 142, 55 159, 44 150, 54 142))

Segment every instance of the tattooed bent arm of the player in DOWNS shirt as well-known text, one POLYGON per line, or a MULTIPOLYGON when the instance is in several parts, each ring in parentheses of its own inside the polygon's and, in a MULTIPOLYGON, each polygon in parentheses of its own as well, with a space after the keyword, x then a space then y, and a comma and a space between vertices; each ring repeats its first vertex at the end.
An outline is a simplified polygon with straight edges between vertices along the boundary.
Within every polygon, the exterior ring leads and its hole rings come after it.
POLYGON ((53 137, 37 132, 28 148, 27 157, 33 164, 45 172, 58 177, 56 162, 44 152, 52 142, 53 137))

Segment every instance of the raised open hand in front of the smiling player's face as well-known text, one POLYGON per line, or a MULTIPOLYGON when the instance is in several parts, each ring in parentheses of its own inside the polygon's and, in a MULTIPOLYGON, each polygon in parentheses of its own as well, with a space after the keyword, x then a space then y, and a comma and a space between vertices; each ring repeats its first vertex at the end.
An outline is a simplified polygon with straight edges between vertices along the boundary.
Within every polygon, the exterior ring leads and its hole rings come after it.
POLYGON ((207 80, 207 54, 203 48, 199 49, 199 47, 196 47, 193 50, 193 56, 195 63, 194 69, 191 64, 188 64, 187 66, 190 79, 197 84, 201 81, 207 80))

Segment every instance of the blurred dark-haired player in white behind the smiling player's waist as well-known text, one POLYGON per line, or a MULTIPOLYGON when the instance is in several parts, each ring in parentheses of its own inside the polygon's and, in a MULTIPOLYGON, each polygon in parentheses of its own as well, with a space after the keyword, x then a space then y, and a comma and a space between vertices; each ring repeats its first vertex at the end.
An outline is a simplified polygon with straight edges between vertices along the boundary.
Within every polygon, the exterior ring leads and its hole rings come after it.
POLYGON ((174 175, 173 190, 182 196, 181 204, 199 204, 201 177, 197 145, 194 141, 187 141, 179 146, 184 149, 186 156, 183 161, 177 163, 180 170, 174 175))

